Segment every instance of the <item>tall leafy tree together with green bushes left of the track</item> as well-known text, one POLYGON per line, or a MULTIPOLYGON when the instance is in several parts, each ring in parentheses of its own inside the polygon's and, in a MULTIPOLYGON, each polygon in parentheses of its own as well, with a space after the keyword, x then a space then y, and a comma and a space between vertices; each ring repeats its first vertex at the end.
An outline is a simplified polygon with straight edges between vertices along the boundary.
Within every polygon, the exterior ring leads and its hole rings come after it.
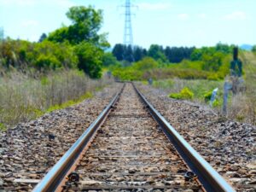
POLYGON ((35 68, 45 72, 59 68, 78 67, 90 78, 102 76, 104 49, 110 44, 102 27, 102 10, 72 7, 67 12, 70 26, 43 33, 38 43, 6 38, 0 42, 0 67, 35 68))

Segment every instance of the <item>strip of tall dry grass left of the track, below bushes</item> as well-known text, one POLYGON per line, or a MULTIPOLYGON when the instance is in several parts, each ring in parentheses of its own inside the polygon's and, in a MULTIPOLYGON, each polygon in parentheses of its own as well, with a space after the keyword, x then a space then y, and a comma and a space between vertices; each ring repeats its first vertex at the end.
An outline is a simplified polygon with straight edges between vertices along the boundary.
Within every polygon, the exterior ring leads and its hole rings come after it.
POLYGON ((77 70, 49 73, 32 78, 31 75, 12 72, 0 76, 0 124, 16 125, 34 119, 53 106, 70 100, 91 96, 111 79, 92 80, 77 70))

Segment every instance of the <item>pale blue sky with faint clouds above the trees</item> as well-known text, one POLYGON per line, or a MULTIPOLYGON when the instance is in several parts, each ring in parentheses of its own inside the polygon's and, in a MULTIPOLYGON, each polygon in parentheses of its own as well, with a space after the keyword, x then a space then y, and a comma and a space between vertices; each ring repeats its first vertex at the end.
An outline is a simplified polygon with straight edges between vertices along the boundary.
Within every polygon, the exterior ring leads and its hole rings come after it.
MULTIPOLYGON (((256 0, 131 0, 134 44, 212 46, 256 44, 256 0)), ((102 9, 101 32, 108 42, 123 43, 125 0, 0 0, 0 27, 10 38, 38 41, 70 25, 68 8, 92 5, 102 9)))

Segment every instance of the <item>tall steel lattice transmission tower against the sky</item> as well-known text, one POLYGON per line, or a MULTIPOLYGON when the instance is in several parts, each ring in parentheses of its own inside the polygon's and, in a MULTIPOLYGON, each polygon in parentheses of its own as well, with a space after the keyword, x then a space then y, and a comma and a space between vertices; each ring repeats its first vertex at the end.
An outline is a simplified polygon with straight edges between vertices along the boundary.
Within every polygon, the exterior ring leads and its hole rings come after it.
POLYGON ((124 44, 133 45, 132 26, 131 26, 131 0, 125 0, 125 33, 124 44))

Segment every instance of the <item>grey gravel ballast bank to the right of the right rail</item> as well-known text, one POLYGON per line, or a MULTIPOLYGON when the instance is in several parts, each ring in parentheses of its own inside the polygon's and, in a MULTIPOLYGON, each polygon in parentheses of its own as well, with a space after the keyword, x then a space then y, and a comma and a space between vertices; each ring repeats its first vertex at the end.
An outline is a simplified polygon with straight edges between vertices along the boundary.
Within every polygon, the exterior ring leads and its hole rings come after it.
POLYGON ((168 98, 163 90, 139 90, 170 124, 237 191, 256 191, 256 129, 224 119, 199 104, 168 98))

